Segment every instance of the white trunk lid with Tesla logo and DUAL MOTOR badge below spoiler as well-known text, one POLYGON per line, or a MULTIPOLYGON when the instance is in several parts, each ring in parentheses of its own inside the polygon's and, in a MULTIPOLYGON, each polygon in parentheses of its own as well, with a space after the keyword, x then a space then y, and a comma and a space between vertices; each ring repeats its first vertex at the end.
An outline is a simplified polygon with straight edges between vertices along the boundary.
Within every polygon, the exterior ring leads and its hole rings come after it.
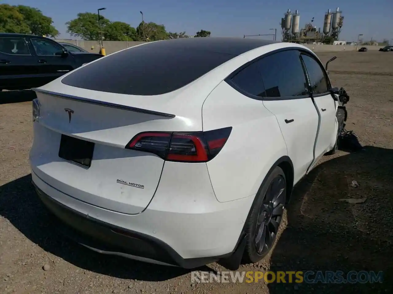
POLYGON ((174 103, 175 95, 167 95, 155 97, 161 103, 146 109, 142 98, 130 95, 116 99, 116 94, 79 89, 83 96, 76 97, 34 90, 40 111, 34 123, 35 138, 30 153, 33 172, 73 198, 116 212, 143 211, 154 196, 165 163, 155 154, 125 149, 136 134, 202 130, 203 100, 198 108, 191 105, 194 107, 191 109, 189 105, 174 103), (128 103, 124 103, 125 98, 128 103), (163 104, 166 107, 160 106, 163 104), (158 111, 160 108, 166 112, 158 111), (62 142, 64 135, 68 145, 62 142), (81 156, 75 152, 87 148, 69 137, 94 143, 90 167, 64 159, 70 159, 64 154, 81 156))

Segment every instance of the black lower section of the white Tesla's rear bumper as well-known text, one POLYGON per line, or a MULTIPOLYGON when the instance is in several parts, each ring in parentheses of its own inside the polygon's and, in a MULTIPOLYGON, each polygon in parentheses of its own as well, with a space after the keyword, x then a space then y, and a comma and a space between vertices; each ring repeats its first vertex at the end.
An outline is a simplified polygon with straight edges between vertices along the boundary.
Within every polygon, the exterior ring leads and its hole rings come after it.
POLYGON ((46 195, 36 185, 35 187, 40 200, 57 217, 59 230, 73 241, 97 252, 186 269, 206 265, 232 253, 184 259, 157 238, 85 216, 46 195))

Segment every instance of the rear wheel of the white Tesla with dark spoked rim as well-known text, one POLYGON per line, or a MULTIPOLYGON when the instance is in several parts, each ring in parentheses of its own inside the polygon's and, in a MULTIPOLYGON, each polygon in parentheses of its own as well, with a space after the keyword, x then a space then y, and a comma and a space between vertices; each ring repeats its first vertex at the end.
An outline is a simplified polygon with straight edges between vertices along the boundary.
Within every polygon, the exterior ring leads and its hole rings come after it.
POLYGON ((286 203, 286 178, 280 167, 275 167, 255 197, 245 226, 243 263, 262 260, 274 247, 286 203))

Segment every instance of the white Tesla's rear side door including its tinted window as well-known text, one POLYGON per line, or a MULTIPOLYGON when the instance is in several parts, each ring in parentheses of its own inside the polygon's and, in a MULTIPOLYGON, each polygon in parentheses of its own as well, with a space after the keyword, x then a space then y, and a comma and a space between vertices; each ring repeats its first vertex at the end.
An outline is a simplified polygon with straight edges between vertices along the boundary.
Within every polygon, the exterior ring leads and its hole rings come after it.
POLYGON ((294 183, 314 161, 318 113, 308 94, 298 50, 270 54, 258 61, 265 88, 264 106, 275 114, 288 156, 294 165, 294 183))

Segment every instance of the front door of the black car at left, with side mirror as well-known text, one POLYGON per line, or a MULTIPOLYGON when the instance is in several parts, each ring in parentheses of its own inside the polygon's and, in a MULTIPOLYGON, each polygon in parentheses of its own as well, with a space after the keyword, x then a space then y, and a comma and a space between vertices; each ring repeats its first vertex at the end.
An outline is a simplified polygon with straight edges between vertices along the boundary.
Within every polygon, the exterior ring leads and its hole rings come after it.
POLYGON ((42 75, 43 82, 49 83, 75 68, 71 54, 62 56, 61 45, 47 39, 31 38, 31 47, 35 52, 35 64, 42 75))

